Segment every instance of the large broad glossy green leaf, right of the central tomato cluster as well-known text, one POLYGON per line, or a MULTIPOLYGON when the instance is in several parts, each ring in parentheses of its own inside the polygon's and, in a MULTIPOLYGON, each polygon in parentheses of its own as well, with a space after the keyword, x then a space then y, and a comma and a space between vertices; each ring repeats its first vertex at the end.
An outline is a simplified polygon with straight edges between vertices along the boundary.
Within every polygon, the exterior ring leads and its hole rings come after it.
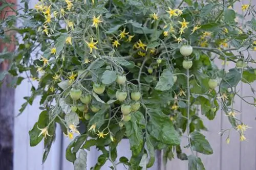
POLYGON ((180 144, 179 134, 168 116, 160 109, 150 109, 148 115, 150 115, 150 121, 147 123, 147 130, 153 137, 166 144, 180 144))

